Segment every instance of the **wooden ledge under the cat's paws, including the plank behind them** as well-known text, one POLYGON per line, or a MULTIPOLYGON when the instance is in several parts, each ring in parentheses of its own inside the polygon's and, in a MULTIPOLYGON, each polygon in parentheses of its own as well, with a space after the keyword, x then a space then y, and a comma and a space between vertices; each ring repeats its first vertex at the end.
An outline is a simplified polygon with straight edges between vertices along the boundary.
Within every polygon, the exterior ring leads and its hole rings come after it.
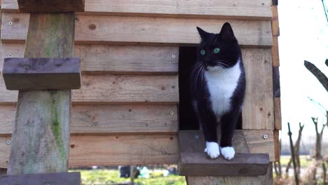
POLYGON ((250 153, 242 130, 233 137, 235 158, 226 160, 222 156, 211 159, 202 150, 205 140, 195 130, 179 132, 179 175, 184 176, 259 176, 267 173, 270 164, 268 153, 250 153))

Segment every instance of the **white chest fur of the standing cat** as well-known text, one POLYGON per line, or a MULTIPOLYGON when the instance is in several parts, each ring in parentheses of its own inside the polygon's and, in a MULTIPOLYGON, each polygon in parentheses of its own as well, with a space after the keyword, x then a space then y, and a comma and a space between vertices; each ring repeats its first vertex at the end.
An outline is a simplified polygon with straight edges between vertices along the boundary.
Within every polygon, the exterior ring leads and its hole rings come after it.
POLYGON ((240 61, 228 69, 217 67, 217 69, 205 71, 212 111, 217 116, 217 121, 220 121, 221 116, 231 109, 231 97, 238 85, 240 74, 240 61))

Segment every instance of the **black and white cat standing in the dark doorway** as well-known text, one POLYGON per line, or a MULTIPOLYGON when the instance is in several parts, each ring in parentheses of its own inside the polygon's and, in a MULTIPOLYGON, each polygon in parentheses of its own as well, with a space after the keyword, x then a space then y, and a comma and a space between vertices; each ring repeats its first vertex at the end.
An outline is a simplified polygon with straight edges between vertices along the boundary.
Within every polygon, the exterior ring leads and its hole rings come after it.
POLYGON ((228 22, 219 34, 197 29, 201 42, 191 71, 193 109, 205 135, 205 153, 217 158, 221 151, 230 160, 235 156, 231 142, 245 96, 241 50, 228 22), (220 145, 217 123, 221 123, 220 145))

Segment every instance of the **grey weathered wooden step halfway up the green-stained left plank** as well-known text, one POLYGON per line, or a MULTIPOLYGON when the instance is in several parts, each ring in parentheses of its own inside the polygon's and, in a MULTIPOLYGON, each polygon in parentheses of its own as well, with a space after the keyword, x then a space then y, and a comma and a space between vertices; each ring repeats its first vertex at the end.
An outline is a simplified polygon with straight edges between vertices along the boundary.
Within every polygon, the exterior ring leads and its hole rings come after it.
POLYGON ((78 58, 5 58, 2 74, 8 90, 81 88, 78 58))

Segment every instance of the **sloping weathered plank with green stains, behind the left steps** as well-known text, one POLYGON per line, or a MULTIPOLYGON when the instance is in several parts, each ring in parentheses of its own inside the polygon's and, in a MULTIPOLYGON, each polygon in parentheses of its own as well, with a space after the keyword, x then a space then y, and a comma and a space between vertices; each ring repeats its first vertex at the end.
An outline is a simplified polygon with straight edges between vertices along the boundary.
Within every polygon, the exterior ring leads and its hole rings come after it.
MULTIPOLYGON (((25 57, 72 57, 74 13, 31 14, 25 57)), ((67 171, 70 90, 20 91, 8 174, 67 171)))

